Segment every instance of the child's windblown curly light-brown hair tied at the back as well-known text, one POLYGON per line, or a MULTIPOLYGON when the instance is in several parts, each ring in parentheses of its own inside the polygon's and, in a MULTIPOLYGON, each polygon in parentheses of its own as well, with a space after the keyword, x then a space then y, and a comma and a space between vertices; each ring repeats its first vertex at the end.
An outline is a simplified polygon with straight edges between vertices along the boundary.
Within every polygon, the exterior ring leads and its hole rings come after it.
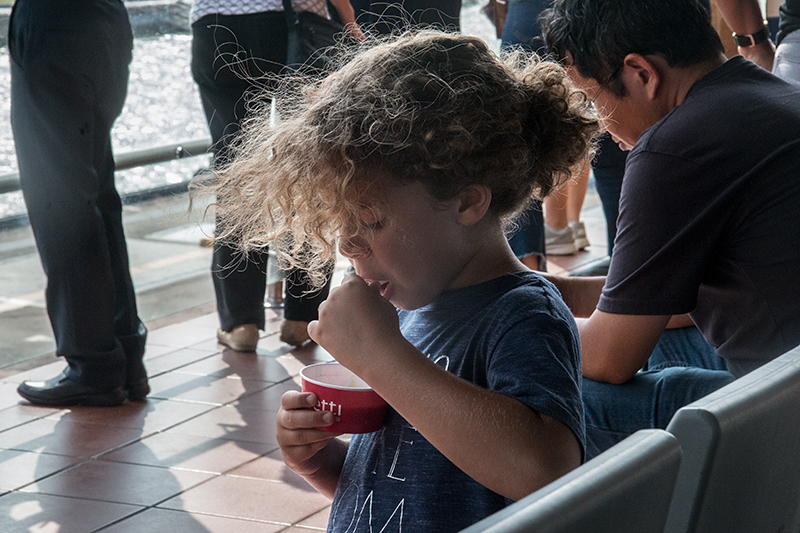
POLYGON ((284 119, 255 113, 211 187, 218 239, 245 252, 274 241, 312 281, 338 235, 364 231, 379 177, 423 183, 438 200, 485 185, 505 222, 592 155, 597 118, 557 63, 433 30, 337 57, 324 78, 286 80, 275 95, 284 119))

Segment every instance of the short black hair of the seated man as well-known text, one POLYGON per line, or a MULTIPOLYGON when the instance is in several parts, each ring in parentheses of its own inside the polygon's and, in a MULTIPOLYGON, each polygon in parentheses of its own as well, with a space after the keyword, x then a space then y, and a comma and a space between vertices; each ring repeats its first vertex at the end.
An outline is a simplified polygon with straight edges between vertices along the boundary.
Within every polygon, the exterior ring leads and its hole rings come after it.
POLYGON ((725 51, 697 0, 555 0, 541 24, 556 57, 569 52, 581 76, 618 96, 625 94, 617 76, 628 54, 655 54, 680 68, 725 51))

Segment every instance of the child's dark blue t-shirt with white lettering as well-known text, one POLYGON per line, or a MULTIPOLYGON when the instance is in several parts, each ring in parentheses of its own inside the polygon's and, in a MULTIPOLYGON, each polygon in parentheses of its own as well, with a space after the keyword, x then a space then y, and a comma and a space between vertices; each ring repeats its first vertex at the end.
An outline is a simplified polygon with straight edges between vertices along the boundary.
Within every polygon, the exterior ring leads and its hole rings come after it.
MULTIPOLYGON (((541 276, 520 272, 447 291, 399 315, 403 336, 429 359, 562 422, 583 449, 578 331, 558 291, 541 276)), ((460 531, 509 503, 389 408, 381 430, 350 442, 328 531, 460 531)))

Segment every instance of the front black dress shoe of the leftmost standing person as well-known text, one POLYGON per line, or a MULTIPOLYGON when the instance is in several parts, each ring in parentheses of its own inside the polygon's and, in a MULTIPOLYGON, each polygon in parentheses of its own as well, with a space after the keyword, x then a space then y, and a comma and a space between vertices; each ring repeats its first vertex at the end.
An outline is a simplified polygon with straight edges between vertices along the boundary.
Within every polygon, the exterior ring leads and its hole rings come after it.
POLYGON ((47 381, 24 381, 18 388, 20 396, 35 405, 47 407, 70 407, 92 405, 114 407, 127 397, 125 389, 114 387, 99 389, 81 385, 69 378, 69 367, 58 376, 47 381))

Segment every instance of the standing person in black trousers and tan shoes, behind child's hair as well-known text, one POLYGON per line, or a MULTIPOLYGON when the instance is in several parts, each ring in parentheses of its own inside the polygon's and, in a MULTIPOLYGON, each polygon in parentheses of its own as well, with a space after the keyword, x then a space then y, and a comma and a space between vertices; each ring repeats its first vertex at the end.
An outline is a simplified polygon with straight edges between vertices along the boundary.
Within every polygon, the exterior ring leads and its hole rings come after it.
MULTIPOLYGON (((333 5, 351 35, 363 38, 348 1, 333 5)), ((294 9, 328 16, 324 0, 297 2, 294 9)), ((196 0, 191 20, 192 76, 214 143, 214 167, 219 169, 229 162, 228 147, 248 115, 248 103, 265 87, 274 88, 285 68, 289 30, 282 0, 196 0)), ((254 351, 266 322, 267 254, 245 258, 217 242, 211 269, 220 320, 217 339, 236 351, 254 351)), ((312 290, 304 274, 287 273, 282 341, 299 346, 308 340, 308 323, 317 319, 329 289, 330 277, 324 287, 312 290)))

